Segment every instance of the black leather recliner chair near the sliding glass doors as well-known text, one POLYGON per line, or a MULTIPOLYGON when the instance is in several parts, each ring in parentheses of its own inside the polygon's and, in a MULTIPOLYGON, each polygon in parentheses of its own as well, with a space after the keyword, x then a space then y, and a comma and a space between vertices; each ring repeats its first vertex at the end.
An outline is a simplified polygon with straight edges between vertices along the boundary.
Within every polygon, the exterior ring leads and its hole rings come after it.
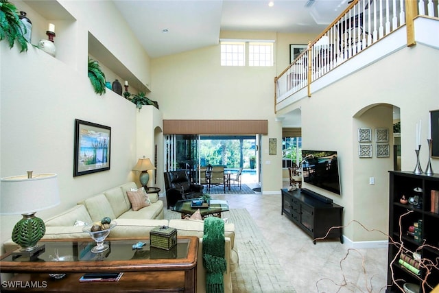
POLYGON ((178 200, 202 197, 204 186, 191 183, 186 171, 183 170, 165 172, 165 188, 169 209, 169 207, 174 207, 178 200))

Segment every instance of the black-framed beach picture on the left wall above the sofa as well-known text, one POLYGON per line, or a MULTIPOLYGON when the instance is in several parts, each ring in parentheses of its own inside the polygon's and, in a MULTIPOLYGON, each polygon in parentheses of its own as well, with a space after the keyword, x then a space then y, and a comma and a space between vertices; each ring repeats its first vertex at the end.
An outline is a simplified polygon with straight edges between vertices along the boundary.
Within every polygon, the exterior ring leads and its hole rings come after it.
POLYGON ((73 177, 110 169, 111 128, 75 119, 73 177))

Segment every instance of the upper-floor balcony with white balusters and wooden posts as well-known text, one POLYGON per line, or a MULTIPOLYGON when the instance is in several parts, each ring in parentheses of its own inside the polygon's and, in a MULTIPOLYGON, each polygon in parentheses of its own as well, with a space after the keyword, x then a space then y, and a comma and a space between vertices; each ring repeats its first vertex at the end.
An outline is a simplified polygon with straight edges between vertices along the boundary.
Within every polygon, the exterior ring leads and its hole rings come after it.
POLYGON ((275 79, 275 112, 416 42, 439 49, 432 0, 355 0, 275 79))

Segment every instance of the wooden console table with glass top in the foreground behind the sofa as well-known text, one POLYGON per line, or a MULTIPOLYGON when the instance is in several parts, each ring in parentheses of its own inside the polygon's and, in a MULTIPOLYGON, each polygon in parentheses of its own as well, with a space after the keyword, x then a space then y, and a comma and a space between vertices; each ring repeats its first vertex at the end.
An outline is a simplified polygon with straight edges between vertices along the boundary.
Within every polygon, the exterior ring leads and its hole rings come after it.
POLYGON ((38 259, 0 259, 0 272, 16 273, 2 281, 1 292, 196 292, 198 237, 178 237, 171 250, 150 248, 148 239, 110 239, 104 253, 91 253, 95 246, 91 239, 45 240, 45 252, 38 259), (141 250, 132 250, 132 244, 145 242, 141 250), (50 256, 73 257, 72 261, 51 261, 50 256), (80 282, 86 272, 123 272, 117 282, 80 282), (65 273, 54 279, 49 273, 65 273))

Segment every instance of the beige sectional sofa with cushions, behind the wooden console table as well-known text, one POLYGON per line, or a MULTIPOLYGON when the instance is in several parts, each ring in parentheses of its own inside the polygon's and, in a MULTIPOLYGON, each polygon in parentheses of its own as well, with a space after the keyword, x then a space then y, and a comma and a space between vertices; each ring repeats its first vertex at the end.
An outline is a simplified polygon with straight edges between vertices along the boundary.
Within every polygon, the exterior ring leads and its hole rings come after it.
MULTIPOLYGON (((203 222, 200 220, 163 220, 163 201, 158 200, 158 194, 147 194, 151 204, 138 211, 133 211, 126 191, 137 189, 135 183, 126 183, 86 198, 75 207, 45 220, 46 233, 43 239, 78 239, 87 238, 88 233, 82 232, 83 226, 75 226, 78 222, 98 222, 104 217, 110 217, 117 222, 108 237, 149 237, 150 231, 156 226, 171 226, 177 229, 178 236, 198 236, 197 292, 205 292, 205 270, 202 265, 203 222)), ((225 292, 232 292, 230 272, 238 266, 238 253, 235 245, 235 225, 225 224, 225 247, 227 271, 224 273, 225 292)), ((133 243, 134 244, 134 243, 133 243)), ((9 240, 3 247, 6 252, 17 248, 9 240)))

